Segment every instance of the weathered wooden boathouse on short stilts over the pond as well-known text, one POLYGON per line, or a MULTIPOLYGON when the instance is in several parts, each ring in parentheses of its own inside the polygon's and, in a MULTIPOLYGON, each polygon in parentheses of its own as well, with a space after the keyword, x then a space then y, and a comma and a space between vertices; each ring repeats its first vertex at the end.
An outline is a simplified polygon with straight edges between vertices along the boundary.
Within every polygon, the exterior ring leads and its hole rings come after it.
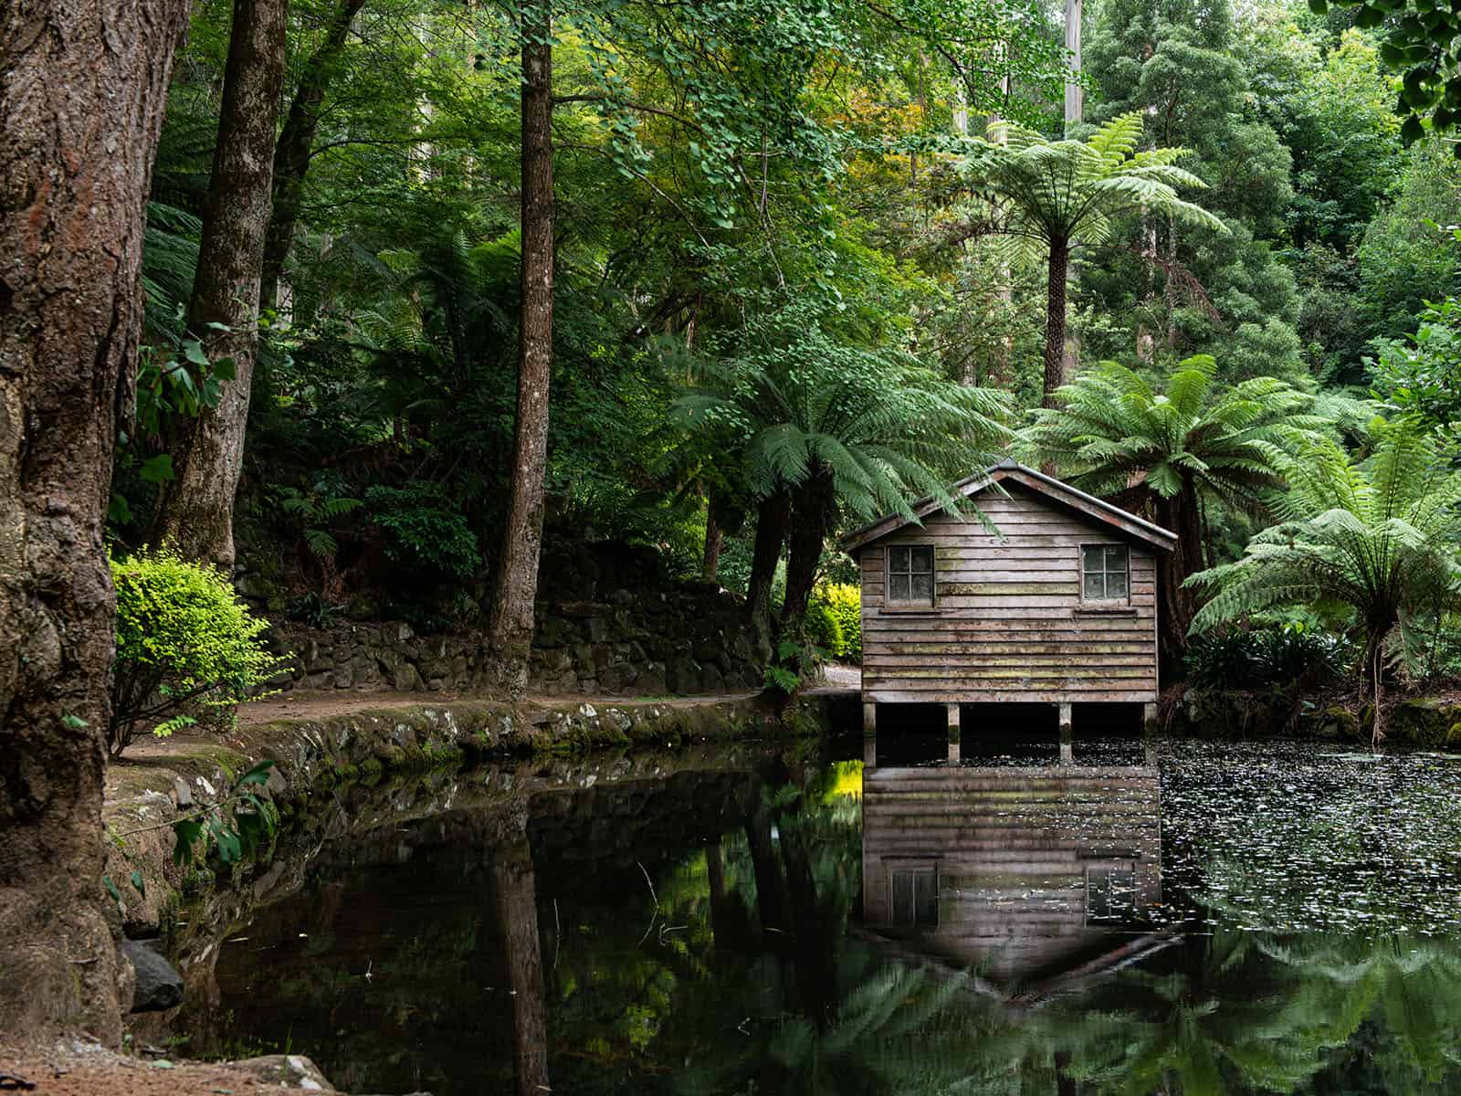
MULTIPOLYGON (((882 517, 843 541, 862 571, 863 726, 878 704, 1059 706, 1157 700, 1157 554, 1176 535, 1014 460, 960 481, 918 520, 882 517)), ((951 756, 957 747, 951 745, 951 756)))

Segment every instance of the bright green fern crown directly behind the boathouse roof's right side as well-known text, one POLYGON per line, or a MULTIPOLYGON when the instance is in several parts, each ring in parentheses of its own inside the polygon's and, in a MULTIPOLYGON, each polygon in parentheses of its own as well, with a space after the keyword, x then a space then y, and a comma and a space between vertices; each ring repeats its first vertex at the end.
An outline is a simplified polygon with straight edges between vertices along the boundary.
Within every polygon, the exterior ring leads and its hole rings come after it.
POLYGON ((1311 396, 1281 380, 1214 393, 1216 373, 1211 357, 1188 358, 1157 392, 1134 370, 1100 362, 1056 390, 1062 406, 1033 412, 1021 450, 1103 498, 1173 498, 1191 487, 1251 510, 1281 484, 1275 454, 1318 438, 1327 422, 1311 412, 1311 396))

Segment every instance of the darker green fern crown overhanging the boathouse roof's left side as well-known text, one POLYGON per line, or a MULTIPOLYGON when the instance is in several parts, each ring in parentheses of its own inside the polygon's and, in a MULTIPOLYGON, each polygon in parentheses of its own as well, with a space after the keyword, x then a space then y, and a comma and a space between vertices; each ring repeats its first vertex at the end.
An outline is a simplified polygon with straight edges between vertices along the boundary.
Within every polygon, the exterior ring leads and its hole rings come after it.
POLYGON ((703 361, 676 421, 741 447, 754 497, 827 472, 856 517, 897 511, 993 460, 1011 437, 1007 393, 964 387, 888 349, 849 346, 815 314, 789 308, 754 323, 739 352, 703 361))

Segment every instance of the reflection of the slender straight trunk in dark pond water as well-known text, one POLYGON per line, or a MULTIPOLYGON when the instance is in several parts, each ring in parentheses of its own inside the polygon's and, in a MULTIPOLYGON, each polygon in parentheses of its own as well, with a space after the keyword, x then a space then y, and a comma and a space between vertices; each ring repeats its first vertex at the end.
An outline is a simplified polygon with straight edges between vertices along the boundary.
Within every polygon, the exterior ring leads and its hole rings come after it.
POLYGON ((507 950, 513 991, 513 1052, 519 1096, 542 1096, 548 1087, 548 1019, 543 1005, 543 960, 538 940, 538 896, 533 858, 523 836, 492 861, 497 913, 507 950))

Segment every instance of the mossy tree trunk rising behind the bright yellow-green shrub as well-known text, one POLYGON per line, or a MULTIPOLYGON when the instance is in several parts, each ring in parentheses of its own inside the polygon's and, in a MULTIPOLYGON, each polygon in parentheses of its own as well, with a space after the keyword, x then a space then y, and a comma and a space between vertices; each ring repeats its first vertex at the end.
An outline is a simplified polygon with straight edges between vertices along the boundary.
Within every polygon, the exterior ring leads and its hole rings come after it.
POLYGON ((213 175, 188 302, 188 330, 209 361, 231 358, 218 406, 172 446, 150 538, 184 557, 234 566, 234 494, 244 466, 248 389, 259 348, 259 279, 273 187, 288 0, 234 0, 213 175))

